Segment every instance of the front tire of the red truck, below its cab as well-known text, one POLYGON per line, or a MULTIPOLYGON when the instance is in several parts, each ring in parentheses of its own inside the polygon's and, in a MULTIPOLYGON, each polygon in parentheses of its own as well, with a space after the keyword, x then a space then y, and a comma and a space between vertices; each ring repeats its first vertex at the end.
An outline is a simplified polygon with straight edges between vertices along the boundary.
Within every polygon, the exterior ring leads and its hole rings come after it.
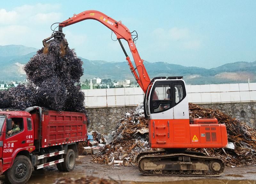
POLYGON ((32 173, 32 164, 28 157, 18 155, 13 165, 5 173, 5 178, 12 184, 27 183, 32 173))

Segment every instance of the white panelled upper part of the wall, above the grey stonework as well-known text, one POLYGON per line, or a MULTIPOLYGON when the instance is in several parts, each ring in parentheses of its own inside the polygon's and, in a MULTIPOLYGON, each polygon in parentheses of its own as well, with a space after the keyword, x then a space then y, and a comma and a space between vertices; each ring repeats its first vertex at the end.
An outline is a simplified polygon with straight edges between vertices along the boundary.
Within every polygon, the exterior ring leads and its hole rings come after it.
MULTIPOLYGON (((188 102, 231 103, 256 101, 256 83, 186 85, 188 102)), ((143 102, 141 88, 83 90, 86 107, 136 106, 143 102)))

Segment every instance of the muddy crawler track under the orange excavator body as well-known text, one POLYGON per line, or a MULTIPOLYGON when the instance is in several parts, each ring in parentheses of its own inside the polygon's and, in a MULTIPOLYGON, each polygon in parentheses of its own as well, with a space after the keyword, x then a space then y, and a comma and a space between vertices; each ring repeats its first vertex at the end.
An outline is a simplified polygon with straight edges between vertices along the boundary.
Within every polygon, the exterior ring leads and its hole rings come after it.
POLYGON ((188 152, 162 154, 165 151, 143 152, 137 156, 140 172, 146 176, 218 177, 225 172, 220 158, 188 152), (189 154, 187 154, 189 153, 189 154))

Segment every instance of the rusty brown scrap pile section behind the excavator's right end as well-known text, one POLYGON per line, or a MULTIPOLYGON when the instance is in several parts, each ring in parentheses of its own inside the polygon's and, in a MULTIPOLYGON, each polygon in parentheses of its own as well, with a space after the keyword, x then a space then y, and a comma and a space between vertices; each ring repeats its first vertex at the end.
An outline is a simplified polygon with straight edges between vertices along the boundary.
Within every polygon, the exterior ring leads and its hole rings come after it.
POLYGON ((227 127, 228 142, 235 146, 234 149, 193 150, 221 158, 229 167, 256 165, 256 131, 253 128, 219 110, 202 108, 192 103, 189 103, 189 114, 193 118, 216 118, 219 123, 224 123, 227 127))

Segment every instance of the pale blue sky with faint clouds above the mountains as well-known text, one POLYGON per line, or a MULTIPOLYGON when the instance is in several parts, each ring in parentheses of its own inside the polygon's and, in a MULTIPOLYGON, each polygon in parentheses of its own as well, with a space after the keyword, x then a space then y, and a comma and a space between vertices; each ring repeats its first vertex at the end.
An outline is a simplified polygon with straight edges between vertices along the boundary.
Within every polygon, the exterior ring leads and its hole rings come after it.
MULTIPOLYGON (((249 0, 4 1, 0 45, 41 48, 42 40, 52 33, 52 23, 74 13, 98 10, 137 31, 136 47, 142 59, 213 68, 256 60, 255 9, 256 1, 249 0)), ((111 40, 111 31, 98 21, 85 20, 63 28, 63 32, 78 56, 126 61, 119 43, 111 40)))

